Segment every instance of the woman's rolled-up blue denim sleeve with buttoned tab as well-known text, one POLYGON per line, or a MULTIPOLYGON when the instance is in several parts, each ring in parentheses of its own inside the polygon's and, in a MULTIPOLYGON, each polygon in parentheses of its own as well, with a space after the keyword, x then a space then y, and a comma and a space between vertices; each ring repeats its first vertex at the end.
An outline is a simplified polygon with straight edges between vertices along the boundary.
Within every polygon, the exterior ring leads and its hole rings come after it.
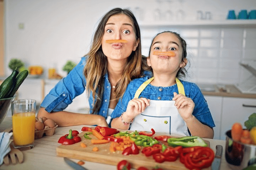
POLYGON ((82 94, 86 84, 83 74, 85 63, 86 57, 82 57, 76 67, 50 90, 41 107, 49 113, 63 111, 76 96, 82 94))

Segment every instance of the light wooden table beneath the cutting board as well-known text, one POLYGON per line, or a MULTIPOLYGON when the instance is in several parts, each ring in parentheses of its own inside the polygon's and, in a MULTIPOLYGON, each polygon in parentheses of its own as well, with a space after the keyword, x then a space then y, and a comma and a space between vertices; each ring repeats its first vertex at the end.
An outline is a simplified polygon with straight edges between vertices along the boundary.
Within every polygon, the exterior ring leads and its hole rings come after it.
MULTIPOLYGON (((0 165, 0 170, 13 170, 13 169, 30 169, 30 170, 73 170, 68 164, 64 162, 63 157, 58 157, 56 155, 56 148, 60 145, 57 141, 58 139, 66 134, 69 129, 81 131, 81 128, 85 125, 79 126, 70 126, 70 127, 58 127, 55 130, 53 136, 43 136, 40 139, 35 140, 35 145, 33 149, 22 151, 24 154, 24 162, 17 163, 16 165, 0 165)), ((12 120, 11 117, 6 117, 4 121, 0 125, 0 132, 4 131, 5 129, 12 128, 12 120)), ((221 162, 221 170, 231 170, 228 166, 228 163, 225 160, 225 141, 224 140, 213 140, 213 139, 206 139, 210 142, 210 147, 213 151, 216 151, 216 145, 223 146, 223 153, 222 153, 222 162, 221 162)), ((71 159, 75 162, 78 162, 77 159, 71 159)), ((116 170, 116 166, 107 165, 107 164, 100 164, 94 162, 84 161, 85 164, 82 165, 88 170, 116 170)))

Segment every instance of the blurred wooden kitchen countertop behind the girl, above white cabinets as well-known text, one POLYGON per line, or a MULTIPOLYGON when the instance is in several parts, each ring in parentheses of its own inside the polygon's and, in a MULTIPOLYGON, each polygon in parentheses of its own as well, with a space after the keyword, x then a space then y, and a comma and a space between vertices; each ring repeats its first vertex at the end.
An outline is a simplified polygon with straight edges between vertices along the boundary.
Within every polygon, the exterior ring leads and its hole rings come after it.
POLYGON ((242 93, 235 85, 224 85, 224 88, 219 88, 218 85, 200 85, 203 95, 208 96, 223 96, 223 97, 243 97, 243 98, 256 98, 256 94, 245 94, 242 93))

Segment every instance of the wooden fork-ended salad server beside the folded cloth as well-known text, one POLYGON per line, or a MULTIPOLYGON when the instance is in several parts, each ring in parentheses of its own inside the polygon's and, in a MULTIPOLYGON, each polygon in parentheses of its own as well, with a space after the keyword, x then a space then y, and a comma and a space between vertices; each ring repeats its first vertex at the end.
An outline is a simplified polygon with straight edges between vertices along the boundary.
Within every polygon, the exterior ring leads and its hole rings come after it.
POLYGON ((11 147, 11 151, 4 157, 4 164, 5 165, 9 165, 10 164, 10 160, 11 159, 11 163, 12 164, 16 164, 16 157, 18 159, 19 163, 23 162, 23 153, 19 150, 14 148, 12 145, 10 145, 11 147))

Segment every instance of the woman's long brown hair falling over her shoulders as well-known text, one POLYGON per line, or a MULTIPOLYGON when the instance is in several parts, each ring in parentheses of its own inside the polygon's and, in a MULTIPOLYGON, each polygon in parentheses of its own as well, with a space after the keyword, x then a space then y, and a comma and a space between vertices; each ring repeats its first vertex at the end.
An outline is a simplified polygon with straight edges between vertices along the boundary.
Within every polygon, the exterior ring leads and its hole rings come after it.
MULTIPOLYGON (((102 51, 101 41, 104 34, 105 26, 108 19, 113 15, 125 14, 133 22, 136 39, 140 41, 140 29, 136 18, 133 13, 127 9, 114 8, 105 16, 102 17, 94 34, 94 39, 90 52, 87 54, 88 59, 84 68, 84 75, 86 78, 86 91, 89 95, 92 92, 94 98, 94 106, 92 114, 97 114, 102 105, 102 95, 104 92, 104 75, 107 73, 107 57, 102 51)), ((132 79, 139 78, 142 75, 142 55, 141 55, 141 43, 135 51, 132 51, 128 57, 127 64, 123 71, 123 76, 116 84, 114 93, 116 93, 116 99, 123 96, 127 85, 132 79)))

